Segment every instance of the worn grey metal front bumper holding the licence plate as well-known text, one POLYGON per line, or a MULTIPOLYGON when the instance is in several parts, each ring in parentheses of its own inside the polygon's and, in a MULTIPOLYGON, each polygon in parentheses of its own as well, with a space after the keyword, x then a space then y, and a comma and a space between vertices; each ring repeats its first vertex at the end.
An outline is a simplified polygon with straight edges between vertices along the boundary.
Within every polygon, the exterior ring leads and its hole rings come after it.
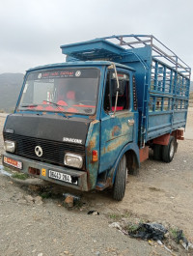
MULTIPOLYGON (((83 172, 83 171, 79 171, 79 170, 73 170, 70 168, 66 168, 66 167, 61 167, 61 166, 56 166, 54 164, 49 164, 49 163, 45 163, 45 162, 40 162, 37 160, 32 160, 29 158, 25 158, 22 156, 15 156, 13 154, 9 154, 9 153, 4 153, 2 154, 2 162, 3 165, 6 167, 9 167, 11 169, 16 169, 18 171, 21 171, 23 173, 26 174, 30 174, 29 170, 30 168, 35 168, 35 169, 39 169, 40 170, 40 175, 38 176, 39 178, 41 178, 42 180, 51 182, 51 183, 55 183, 55 184, 59 184, 59 185, 65 185, 74 189, 78 189, 78 190, 82 190, 82 191, 88 191, 88 184, 87 184, 87 172, 83 172), (8 164, 4 162, 4 157, 13 159, 14 161, 18 161, 21 162, 21 169, 14 167, 12 164, 8 164), (48 177, 48 173, 49 170, 55 171, 55 172, 60 172, 63 174, 67 174, 70 175, 71 177, 73 177, 73 179, 77 179, 78 183, 77 185, 71 184, 71 183, 67 183, 67 182, 63 182, 63 181, 59 181, 59 180, 55 180, 52 178, 48 177)), ((35 175, 37 177, 37 175, 35 175)))

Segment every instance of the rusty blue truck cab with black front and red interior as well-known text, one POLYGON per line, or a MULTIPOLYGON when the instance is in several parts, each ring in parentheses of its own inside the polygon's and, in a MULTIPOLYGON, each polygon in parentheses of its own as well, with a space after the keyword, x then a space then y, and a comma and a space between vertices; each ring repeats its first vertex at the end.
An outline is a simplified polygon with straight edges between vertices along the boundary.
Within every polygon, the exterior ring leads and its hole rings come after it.
POLYGON ((112 186, 125 152, 138 163, 134 86, 132 68, 108 61, 27 71, 4 128, 4 164, 76 189, 112 186))

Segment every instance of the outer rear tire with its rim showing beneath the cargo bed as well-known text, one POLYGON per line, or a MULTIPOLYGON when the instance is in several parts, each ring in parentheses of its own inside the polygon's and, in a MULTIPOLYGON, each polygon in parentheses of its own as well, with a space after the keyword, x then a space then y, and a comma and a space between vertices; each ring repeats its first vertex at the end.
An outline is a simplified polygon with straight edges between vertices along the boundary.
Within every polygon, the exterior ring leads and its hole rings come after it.
POLYGON ((162 159, 165 162, 171 162, 175 156, 176 152, 176 141, 173 136, 170 136, 170 140, 167 146, 162 148, 162 159))

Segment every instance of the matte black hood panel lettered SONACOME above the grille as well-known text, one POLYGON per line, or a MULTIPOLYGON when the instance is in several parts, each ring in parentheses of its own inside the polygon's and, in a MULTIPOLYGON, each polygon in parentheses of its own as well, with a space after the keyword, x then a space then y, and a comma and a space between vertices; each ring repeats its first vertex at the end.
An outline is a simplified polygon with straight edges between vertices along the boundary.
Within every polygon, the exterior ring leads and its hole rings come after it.
POLYGON ((92 120, 63 116, 12 114, 8 116, 4 133, 85 145, 92 120))

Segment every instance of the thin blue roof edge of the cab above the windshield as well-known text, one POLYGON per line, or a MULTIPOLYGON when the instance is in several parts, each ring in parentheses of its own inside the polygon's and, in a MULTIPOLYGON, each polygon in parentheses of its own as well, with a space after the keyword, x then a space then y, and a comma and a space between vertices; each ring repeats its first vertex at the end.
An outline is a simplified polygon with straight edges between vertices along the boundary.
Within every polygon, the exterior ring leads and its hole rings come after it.
MULTIPOLYGON (((64 63, 56 63, 56 64, 48 64, 44 66, 35 67, 29 69, 28 71, 38 71, 38 70, 49 70, 49 69, 57 69, 57 68, 66 68, 66 67, 84 67, 84 66, 110 66, 113 62, 110 61, 75 61, 75 62, 64 62, 64 63)), ((115 63, 116 67, 123 68, 129 71, 135 71, 133 68, 129 66, 125 66, 120 63, 115 63)))

